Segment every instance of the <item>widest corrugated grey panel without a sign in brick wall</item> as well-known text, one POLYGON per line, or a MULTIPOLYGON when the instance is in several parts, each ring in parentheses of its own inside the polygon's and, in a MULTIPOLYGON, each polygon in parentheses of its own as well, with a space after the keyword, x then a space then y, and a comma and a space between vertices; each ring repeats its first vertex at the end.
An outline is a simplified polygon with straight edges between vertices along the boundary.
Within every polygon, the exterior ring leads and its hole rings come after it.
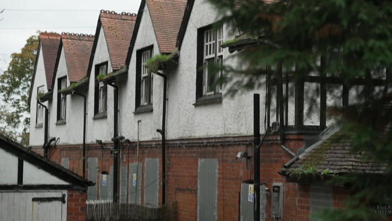
POLYGON ((199 159, 198 221, 218 220, 218 159, 199 159))

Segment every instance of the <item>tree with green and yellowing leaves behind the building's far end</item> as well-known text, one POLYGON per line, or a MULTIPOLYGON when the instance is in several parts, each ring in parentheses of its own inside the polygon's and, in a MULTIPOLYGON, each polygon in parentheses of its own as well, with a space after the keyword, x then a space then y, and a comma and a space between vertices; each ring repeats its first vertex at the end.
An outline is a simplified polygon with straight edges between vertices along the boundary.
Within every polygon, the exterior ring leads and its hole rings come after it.
MULTIPOLYGON (((29 134, 30 107, 27 102, 37 50, 38 36, 33 35, 26 40, 25 46, 19 53, 11 54, 11 62, 0 76, 0 93, 6 104, 0 107, 2 113, 0 122, 5 124, 2 131, 14 140, 16 138, 20 140, 21 137, 29 134)), ((26 141, 26 138, 23 140, 26 141)))

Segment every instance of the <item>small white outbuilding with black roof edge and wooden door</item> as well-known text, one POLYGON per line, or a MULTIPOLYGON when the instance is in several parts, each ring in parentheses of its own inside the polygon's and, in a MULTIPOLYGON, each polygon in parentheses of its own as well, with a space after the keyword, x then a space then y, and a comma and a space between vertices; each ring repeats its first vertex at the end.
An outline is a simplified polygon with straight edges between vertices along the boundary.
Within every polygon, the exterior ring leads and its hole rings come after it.
POLYGON ((0 219, 85 220, 95 183, 0 135, 0 219))

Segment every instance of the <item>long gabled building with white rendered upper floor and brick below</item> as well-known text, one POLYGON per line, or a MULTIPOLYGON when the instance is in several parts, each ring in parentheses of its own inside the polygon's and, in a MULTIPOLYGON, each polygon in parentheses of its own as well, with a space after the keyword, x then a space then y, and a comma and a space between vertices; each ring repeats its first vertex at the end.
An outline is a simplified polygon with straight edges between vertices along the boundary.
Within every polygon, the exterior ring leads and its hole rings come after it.
MULTIPOLYGON (((94 38, 63 33, 51 91, 37 97, 34 89, 44 85, 44 72, 36 71, 33 79, 31 116, 37 98, 49 110, 46 139, 31 121, 33 150, 44 152, 45 146, 49 159, 97 183, 89 187, 87 199, 150 207, 177 201, 179 220, 251 220, 253 93, 259 93, 265 105, 260 116, 266 119, 260 117, 261 134, 267 134, 260 153, 261 182, 267 187, 262 220, 272 220, 272 214, 309 220, 318 206, 312 191, 343 207, 349 195, 344 188, 294 181, 287 171, 301 167, 306 153, 327 139, 319 134, 333 124, 326 114, 332 101, 328 84, 341 86, 342 105, 356 102, 355 90, 341 79, 325 81, 323 73, 297 82, 283 71, 283 80, 268 79, 268 87, 223 96, 225 85, 211 87, 216 75, 200 67, 239 66, 230 55, 255 45, 240 35, 221 47, 239 33, 230 34, 227 25, 215 31, 218 21, 216 9, 203 0, 142 0, 137 16, 101 11, 94 38), (147 69, 150 58, 158 63, 155 73, 147 69), (285 90, 276 93, 283 85, 285 90), (296 93, 289 97, 291 88, 296 93), (314 88, 320 88, 319 108, 304 115, 311 102, 305 91, 314 88), (285 104, 279 96, 287 98, 285 104), (281 145, 300 160, 294 162, 281 145), (250 157, 236 159, 239 152, 250 157), (289 169, 283 166, 288 162, 294 163, 289 169)), ((47 59, 38 56, 37 67, 42 63, 46 66, 47 59)), ((366 80, 359 79, 357 86, 366 80)), ((386 84, 385 79, 377 82, 386 84)))

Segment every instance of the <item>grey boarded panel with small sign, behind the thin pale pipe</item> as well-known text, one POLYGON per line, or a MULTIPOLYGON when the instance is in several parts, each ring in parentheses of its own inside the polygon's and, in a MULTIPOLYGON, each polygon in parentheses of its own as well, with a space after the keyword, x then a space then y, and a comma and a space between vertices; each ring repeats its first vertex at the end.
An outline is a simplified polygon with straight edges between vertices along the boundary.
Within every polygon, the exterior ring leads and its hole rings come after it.
POLYGON ((129 173, 129 203, 142 204, 142 163, 131 163, 129 173), (136 182, 133 182, 133 175, 136 174, 136 182))

